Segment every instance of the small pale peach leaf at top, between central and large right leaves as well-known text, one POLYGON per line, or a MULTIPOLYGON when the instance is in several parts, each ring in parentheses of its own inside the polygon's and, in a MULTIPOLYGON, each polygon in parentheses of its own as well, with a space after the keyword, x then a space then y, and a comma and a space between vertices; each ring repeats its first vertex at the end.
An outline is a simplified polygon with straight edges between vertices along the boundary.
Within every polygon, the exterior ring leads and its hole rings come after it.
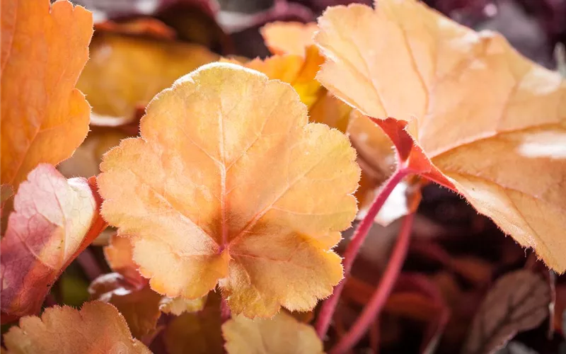
POLYGON ((316 23, 272 22, 260 29, 265 45, 273 54, 305 55, 306 48, 314 45, 316 23))

